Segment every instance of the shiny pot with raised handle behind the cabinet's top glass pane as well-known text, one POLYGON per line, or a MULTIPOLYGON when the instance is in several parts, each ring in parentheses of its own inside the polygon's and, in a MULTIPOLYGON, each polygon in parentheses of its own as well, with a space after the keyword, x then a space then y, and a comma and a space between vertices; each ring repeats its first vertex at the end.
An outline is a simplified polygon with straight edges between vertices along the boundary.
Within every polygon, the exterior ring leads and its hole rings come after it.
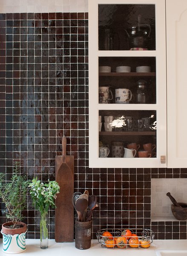
POLYGON ((138 24, 131 26, 128 31, 125 29, 129 38, 130 48, 147 48, 147 41, 150 39, 150 24, 141 23, 141 15, 138 15, 138 24))

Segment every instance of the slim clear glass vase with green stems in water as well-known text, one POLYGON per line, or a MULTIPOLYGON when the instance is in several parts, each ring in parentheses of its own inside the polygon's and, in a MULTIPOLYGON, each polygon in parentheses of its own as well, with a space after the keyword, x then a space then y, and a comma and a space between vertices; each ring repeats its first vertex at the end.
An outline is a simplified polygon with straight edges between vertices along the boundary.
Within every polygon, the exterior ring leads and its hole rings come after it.
POLYGON ((48 248, 48 222, 49 216, 48 212, 41 212, 40 215, 40 248, 48 248))

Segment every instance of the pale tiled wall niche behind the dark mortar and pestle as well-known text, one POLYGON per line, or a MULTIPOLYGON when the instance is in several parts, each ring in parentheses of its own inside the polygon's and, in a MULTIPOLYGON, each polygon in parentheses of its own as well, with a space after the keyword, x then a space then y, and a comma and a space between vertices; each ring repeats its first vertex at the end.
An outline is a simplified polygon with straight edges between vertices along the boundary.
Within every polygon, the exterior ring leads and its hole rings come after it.
POLYGON ((167 192, 187 203, 187 179, 151 179, 151 221, 176 221, 167 192))

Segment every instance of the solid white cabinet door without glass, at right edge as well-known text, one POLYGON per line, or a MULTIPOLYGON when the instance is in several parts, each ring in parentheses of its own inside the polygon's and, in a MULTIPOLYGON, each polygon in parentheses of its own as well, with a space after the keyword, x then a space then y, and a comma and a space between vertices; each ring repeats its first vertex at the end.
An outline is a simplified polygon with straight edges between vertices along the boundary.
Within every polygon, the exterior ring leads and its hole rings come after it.
POLYGON ((187 167, 187 1, 166 0, 167 166, 187 167))

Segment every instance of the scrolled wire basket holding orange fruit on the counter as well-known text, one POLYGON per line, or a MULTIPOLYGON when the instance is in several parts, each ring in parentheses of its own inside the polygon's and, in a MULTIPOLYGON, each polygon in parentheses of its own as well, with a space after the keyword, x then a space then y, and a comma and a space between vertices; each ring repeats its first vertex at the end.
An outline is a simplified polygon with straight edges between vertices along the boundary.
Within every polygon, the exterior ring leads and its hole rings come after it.
POLYGON ((129 229, 131 236, 121 236, 124 230, 101 229, 97 231, 96 236, 101 247, 106 249, 147 249, 155 237, 155 233, 149 229, 129 229), (105 236, 104 232, 112 236, 105 236))

